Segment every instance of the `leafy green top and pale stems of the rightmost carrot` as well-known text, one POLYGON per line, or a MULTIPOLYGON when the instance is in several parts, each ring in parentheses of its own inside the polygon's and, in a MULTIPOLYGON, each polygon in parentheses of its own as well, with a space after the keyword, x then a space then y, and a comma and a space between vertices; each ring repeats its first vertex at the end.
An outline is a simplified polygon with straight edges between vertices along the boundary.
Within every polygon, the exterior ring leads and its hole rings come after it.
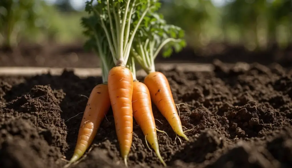
POLYGON ((150 17, 144 20, 143 27, 140 27, 131 47, 131 55, 147 72, 154 72, 154 60, 159 52, 164 49, 163 56, 169 57, 186 46, 183 39, 184 31, 171 24, 166 24, 162 15, 150 13, 150 17))

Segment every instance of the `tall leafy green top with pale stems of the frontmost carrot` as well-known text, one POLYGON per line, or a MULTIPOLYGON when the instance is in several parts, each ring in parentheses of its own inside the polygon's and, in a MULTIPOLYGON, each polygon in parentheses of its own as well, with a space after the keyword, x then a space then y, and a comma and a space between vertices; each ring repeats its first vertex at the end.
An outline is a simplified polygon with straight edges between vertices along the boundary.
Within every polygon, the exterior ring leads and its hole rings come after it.
POLYGON ((114 64, 125 66, 131 46, 144 17, 156 10, 156 0, 93 0, 86 2, 86 11, 93 13, 107 39, 114 64))

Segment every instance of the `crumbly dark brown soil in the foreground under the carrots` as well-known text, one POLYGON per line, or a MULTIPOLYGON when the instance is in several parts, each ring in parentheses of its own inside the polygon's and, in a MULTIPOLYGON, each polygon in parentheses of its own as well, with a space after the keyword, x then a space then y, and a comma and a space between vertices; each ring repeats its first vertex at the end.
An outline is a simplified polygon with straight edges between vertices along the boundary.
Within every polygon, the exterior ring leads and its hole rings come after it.
MULTIPOLYGON (((279 64, 223 64, 212 72, 162 71, 189 142, 182 143, 153 106, 160 152, 168 167, 292 166, 292 71, 279 64), (185 129, 186 130, 186 129, 185 129)), ((73 154, 87 98, 101 78, 0 77, 1 168, 63 167, 73 154)), ((142 80, 142 78, 139 78, 142 80)), ((124 167, 112 111, 90 150, 72 168, 124 167)), ((133 126, 130 167, 162 167, 133 126)))

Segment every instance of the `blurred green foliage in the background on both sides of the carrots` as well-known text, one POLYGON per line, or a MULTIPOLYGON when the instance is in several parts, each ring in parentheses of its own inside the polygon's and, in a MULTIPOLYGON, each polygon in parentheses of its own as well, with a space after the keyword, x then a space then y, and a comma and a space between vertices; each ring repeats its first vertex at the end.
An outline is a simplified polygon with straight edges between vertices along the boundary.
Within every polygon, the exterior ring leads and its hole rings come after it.
MULTIPOLYGON (((159 12, 169 24, 185 30, 190 47, 225 41, 254 50, 292 43, 291 0, 228 0, 221 7, 211 0, 160 2, 159 12)), ((55 5, 44 0, 0 0, 0 45, 15 47, 20 39, 80 42, 85 40, 80 18, 86 15, 70 7, 69 0, 55 5)))

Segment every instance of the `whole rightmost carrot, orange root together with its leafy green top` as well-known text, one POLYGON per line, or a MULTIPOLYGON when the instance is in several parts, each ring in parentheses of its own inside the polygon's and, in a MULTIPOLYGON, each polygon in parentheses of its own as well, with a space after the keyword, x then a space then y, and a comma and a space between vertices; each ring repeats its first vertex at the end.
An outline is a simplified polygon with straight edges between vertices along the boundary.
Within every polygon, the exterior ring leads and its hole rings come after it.
POLYGON ((167 78, 164 74, 155 71, 154 65, 154 60, 163 47, 167 47, 164 56, 168 56, 172 52, 172 46, 178 51, 185 45, 180 39, 184 32, 180 27, 166 24, 157 13, 152 13, 151 17, 150 20, 153 21, 148 23, 150 26, 140 28, 140 34, 136 36, 132 45, 131 55, 147 73, 144 83, 149 89, 151 100, 169 122, 173 131, 189 141, 184 134, 167 78))

